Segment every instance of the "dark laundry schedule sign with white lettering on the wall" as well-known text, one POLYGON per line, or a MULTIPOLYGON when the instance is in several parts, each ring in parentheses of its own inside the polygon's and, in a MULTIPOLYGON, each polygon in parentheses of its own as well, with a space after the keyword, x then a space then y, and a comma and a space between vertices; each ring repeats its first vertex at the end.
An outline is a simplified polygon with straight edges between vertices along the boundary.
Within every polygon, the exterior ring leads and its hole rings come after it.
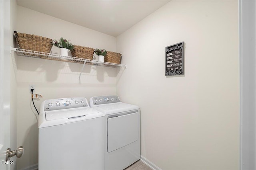
POLYGON ((184 74, 184 42, 165 47, 165 75, 184 74))

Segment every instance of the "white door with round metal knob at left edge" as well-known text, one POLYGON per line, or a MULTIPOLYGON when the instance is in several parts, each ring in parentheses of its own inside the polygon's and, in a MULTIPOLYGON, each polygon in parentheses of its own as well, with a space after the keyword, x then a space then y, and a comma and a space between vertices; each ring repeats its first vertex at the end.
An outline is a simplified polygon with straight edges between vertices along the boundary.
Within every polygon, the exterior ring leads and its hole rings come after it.
MULTIPOLYGON (((10 1, 0 0, 0 169, 9 170, 10 148, 10 1), (9 61, 9 62, 8 62, 9 61)), ((16 148, 15 148, 16 149, 16 148)))

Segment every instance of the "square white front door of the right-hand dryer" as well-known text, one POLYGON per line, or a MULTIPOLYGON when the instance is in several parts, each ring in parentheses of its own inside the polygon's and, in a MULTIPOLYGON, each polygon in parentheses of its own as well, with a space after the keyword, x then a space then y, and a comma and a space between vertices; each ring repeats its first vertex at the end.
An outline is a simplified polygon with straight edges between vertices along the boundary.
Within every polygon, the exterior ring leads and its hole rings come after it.
POLYGON ((108 118, 108 152, 139 139, 139 113, 108 118))

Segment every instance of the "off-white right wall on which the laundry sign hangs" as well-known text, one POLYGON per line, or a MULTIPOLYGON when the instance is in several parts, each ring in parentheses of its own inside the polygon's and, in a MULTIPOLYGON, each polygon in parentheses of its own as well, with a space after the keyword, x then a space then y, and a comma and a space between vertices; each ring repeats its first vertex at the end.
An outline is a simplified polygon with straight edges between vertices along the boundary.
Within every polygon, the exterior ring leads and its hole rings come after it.
POLYGON ((239 168, 238 1, 172 0, 117 37, 123 102, 141 107, 141 155, 163 170, 239 168), (185 42, 185 73, 165 47, 185 42))

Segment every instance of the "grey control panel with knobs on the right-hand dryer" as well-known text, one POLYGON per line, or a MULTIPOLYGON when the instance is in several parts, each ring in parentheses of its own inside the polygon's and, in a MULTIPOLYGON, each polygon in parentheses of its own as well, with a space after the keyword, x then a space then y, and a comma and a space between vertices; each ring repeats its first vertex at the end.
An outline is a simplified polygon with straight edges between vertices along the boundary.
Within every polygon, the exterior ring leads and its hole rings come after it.
POLYGON ((100 104, 109 104, 109 103, 118 103, 121 102, 118 96, 96 96, 90 98, 90 104, 100 105, 100 104))

